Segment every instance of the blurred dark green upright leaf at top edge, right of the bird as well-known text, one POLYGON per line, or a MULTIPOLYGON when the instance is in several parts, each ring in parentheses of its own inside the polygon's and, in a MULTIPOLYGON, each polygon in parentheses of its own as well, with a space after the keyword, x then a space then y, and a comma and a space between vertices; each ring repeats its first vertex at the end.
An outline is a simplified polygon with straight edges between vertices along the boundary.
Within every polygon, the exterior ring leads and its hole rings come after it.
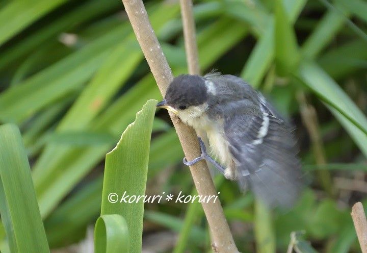
POLYGON ((298 44, 292 23, 281 0, 275 5, 275 63, 277 72, 286 75, 300 60, 298 44))

